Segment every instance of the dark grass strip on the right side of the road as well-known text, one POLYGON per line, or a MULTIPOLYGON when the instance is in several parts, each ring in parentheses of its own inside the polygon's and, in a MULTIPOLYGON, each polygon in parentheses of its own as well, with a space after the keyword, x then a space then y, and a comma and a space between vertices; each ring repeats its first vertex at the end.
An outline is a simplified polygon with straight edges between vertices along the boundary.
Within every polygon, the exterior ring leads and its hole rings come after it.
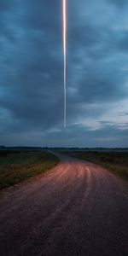
POLYGON ((128 152, 65 151, 63 153, 89 160, 128 181, 128 152))

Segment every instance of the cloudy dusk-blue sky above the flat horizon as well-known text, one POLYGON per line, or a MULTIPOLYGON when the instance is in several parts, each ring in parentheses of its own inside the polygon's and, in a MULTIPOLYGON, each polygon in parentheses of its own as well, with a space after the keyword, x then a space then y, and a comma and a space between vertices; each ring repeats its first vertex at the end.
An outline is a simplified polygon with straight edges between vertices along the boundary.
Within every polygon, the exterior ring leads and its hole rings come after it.
POLYGON ((0 144, 128 147, 128 1, 0 0, 0 144))

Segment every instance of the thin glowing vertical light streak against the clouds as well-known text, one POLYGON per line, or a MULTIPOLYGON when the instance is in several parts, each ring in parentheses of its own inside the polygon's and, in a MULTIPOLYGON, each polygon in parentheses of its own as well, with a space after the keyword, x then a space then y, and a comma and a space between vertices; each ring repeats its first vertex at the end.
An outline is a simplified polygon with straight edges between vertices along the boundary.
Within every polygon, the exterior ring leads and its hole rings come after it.
POLYGON ((63 1, 64 127, 67 126, 67 0, 63 1))

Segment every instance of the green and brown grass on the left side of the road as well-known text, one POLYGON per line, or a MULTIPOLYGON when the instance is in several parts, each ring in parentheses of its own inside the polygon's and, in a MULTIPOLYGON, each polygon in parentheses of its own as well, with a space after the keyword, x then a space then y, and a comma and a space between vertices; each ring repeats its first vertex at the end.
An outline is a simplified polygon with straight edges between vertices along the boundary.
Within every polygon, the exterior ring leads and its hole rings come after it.
POLYGON ((58 162, 55 155, 44 151, 0 151, 0 189, 42 174, 58 162))

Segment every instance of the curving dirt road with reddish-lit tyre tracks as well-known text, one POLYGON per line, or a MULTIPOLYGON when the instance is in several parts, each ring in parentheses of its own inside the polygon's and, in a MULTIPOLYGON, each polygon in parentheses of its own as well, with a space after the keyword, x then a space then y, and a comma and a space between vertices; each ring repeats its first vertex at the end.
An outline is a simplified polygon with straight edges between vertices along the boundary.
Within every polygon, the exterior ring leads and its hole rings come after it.
POLYGON ((61 157, 45 176, 0 193, 0 255, 127 256, 127 184, 61 157))

